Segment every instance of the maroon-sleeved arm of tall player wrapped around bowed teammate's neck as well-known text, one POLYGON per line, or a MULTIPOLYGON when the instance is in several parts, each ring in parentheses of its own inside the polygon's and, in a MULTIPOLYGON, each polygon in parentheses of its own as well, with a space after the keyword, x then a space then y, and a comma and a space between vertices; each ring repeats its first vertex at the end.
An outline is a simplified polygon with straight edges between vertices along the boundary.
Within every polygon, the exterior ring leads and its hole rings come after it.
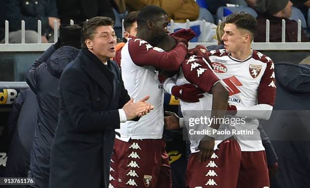
POLYGON ((187 42, 180 39, 176 47, 170 52, 151 46, 141 39, 131 39, 129 53, 133 62, 138 66, 154 66, 163 70, 179 70, 187 53, 187 42))

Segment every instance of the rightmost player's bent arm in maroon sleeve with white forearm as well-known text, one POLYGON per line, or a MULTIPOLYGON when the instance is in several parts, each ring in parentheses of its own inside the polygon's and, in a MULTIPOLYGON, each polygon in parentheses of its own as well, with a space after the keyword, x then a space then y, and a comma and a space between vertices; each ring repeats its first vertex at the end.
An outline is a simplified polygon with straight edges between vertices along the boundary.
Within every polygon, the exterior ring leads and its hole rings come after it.
POLYGON ((272 61, 267 63, 257 92, 257 105, 249 107, 230 105, 227 107, 227 114, 263 120, 270 118, 276 99, 275 67, 272 61))

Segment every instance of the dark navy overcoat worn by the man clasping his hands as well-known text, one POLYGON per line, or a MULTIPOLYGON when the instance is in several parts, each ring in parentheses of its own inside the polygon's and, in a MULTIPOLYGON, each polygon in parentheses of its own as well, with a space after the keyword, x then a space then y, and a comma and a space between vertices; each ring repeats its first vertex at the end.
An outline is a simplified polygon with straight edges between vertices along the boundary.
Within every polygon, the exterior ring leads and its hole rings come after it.
POLYGON ((49 187, 107 187, 118 109, 130 100, 118 65, 103 66, 82 49, 63 71, 59 91, 49 187))

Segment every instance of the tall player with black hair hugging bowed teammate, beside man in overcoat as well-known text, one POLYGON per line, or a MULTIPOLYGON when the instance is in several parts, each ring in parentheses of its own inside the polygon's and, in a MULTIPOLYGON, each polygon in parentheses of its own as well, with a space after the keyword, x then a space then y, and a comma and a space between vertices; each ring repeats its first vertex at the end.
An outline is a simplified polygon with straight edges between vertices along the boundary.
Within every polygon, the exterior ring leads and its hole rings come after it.
MULTIPOLYGON (((156 6, 144 7, 137 16, 137 37, 131 36, 122 49, 122 77, 129 95, 137 100, 144 93, 154 109, 139 121, 128 121, 117 130, 112 156, 110 187, 171 187, 168 155, 165 151, 164 90, 156 69, 177 71, 187 54, 187 40, 174 37, 170 52, 153 47, 168 35, 167 13, 156 6), (142 162, 143 161, 143 162, 142 162)), ((182 88, 182 87, 181 87, 182 88)), ((192 88, 182 88, 185 93, 192 88)), ((179 89, 180 90, 180 89, 179 89)), ((196 96, 188 95, 190 98, 196 96)), ((186 99, 185 99, 186 100, 186 99)))

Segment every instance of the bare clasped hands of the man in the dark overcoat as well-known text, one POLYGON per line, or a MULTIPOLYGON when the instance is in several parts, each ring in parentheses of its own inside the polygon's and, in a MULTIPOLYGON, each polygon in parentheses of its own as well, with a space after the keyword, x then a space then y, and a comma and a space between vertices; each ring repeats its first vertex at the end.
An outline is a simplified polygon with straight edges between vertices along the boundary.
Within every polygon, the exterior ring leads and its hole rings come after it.
POLYGON ((146 103, 145 99, 147 99, 147 97, 143 98, 142 101, 138 101, 138 102, 134 103, 133 98, 131 98, 123 106, 123 110, 126 114, 127 120, 132 120, 136 117, 142 117, 154 108, 150 104, 146 103))

